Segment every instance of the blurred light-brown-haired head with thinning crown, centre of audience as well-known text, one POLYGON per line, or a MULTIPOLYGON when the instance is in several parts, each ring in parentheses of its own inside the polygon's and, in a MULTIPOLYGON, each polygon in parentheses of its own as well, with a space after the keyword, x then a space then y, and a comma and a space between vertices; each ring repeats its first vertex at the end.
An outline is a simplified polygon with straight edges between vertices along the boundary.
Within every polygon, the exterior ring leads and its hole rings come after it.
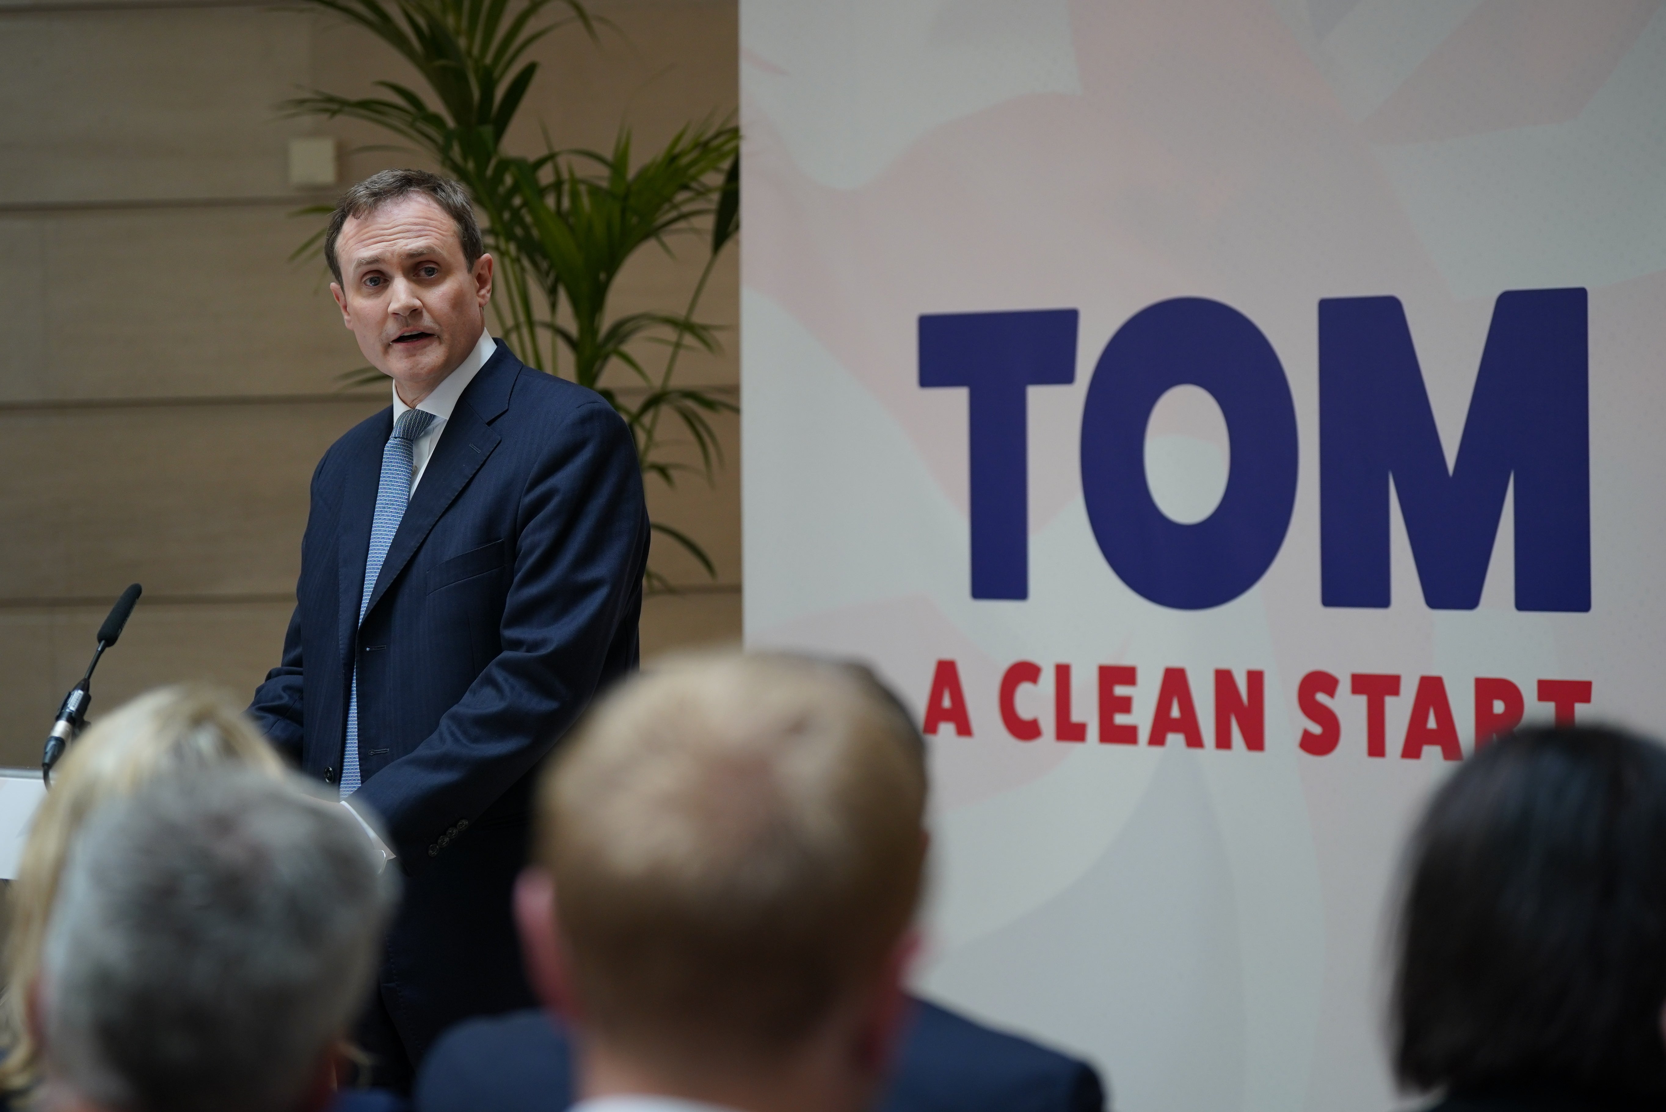
POLYGON ((865 669, 673 660, 605 699, 538 795, 516 890, 586 1095, 865 1105, 903 1012, 925 750, 865 669))

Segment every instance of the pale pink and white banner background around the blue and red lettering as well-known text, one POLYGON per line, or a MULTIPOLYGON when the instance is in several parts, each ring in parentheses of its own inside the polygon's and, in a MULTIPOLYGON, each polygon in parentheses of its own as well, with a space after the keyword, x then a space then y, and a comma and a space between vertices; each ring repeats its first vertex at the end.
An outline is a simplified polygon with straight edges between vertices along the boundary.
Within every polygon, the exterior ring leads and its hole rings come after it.
MULTIPOLYGON (((1448 765, 1398 760, 1418 675, 1461 727, 1476 675, 1589 679, 1583 715, 1666 727, 1666 15, 1659 0, 743 0, 746 637, 863 657, 923 705, 955 659, 975 735, 933 742, 925 992, 1070 1047, 1123 1112, 1389 1109, 1384 895, 1448 765), (1456 450, 1493 298, 1591 293, 1593 610, 1513 609, 1511 508, 1474 612, 1424 607, 1394 522, 1394 604, 1318 592, 1316 305, 1406 307, 1456 450), (1081 402, 1140 308, 1210 297, 1278 352, 1301 477, 1289 533, 1225 607, 1116 579, 1081 505, 1081 402), (966 400, 921 390, 920 313, 1081 312, 1076 383, 1030 390, 1023 602, 968 590, 966 400), (1263 669, 1263 754, 1020 744, 996 687, 1140 669, 1133 722, 1188 667, 1263 669), (1343 744, 1296 750, 1294 690, 1343 677, 1343 744), (1351 672, 1403 675, 1391 759, 1351 672)), ((1201 517, 1218 410, 1148 430, 1160 505, 1201 517)))

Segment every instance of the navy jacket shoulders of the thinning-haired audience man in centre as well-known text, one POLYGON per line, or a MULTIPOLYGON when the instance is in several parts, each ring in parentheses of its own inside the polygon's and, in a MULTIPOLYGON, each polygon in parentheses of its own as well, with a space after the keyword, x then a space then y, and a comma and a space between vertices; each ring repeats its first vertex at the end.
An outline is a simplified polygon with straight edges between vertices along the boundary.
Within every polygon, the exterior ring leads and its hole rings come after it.
MULTIPOLYGON (((565 1112, 573 1104, 566 1034, 540 1010, 448 1030, 416 1077, 416 1112, 565 1112)), ((880 1112, 1103 1112, 1086 1062, 928 1000, 915 1014, 880 1112)))

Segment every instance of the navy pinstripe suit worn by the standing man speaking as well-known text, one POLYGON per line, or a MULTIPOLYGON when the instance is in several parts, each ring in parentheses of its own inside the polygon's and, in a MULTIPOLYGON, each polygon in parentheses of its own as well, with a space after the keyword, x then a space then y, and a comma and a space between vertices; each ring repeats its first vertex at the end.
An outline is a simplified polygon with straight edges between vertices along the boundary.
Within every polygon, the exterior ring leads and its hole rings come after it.
POLYGON ((596 393, 501 342, 456 400, 358 622, 388 407, 312 482, 283 662, 250 714, 342 779, 358 664, 353 800, 407 874, 382 999, 412 1060, 453 1022, 531 995, 510 919, 540 760, 636 667, 648 513, 630 430, 596 393))

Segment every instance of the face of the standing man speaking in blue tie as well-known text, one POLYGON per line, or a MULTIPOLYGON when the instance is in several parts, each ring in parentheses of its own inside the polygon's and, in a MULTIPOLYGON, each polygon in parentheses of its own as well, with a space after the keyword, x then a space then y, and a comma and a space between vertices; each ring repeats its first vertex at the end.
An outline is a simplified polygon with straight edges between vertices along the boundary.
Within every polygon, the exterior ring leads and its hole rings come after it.
POLYGON ((480 342, 491 255, 470 267, 456 222, 421 193, 352 217, 335 242, 342 320, 407 405, 440 385, 480 342))

